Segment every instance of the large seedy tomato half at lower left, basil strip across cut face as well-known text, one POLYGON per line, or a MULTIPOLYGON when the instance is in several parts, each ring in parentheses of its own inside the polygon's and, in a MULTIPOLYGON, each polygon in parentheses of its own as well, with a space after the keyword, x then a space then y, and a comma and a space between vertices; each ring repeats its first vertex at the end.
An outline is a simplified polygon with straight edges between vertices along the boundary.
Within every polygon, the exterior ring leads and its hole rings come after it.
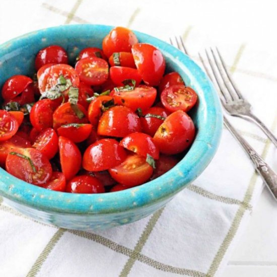
POLYGON ((7 156, 6 170, 15 177, 34 185, 48 182, 52 167, 47 157, 33 148, 21 148, 7 156))

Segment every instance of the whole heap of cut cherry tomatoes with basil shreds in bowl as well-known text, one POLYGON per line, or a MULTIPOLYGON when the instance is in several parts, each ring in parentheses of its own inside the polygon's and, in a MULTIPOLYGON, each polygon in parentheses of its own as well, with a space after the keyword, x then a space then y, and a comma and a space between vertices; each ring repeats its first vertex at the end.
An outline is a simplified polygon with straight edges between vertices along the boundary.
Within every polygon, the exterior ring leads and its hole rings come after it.
POLYGON ((61 46, 41 49, 33 78, 2 87, 0 165, 56 191, 119 191, 173 168, 192 144, 197 95, 155 46, 116 27, 75 65, 61 46))

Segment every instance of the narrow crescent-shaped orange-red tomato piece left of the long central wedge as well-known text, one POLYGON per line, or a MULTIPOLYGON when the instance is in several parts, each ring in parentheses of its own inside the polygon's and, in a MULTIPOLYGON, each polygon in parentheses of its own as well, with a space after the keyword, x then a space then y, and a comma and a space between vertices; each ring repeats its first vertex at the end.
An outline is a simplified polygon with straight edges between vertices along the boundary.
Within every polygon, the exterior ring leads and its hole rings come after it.
POLYGON ((88 108, 88 118, 94 127, 97 127, 105 103, 112 103, 112 100, 113 98, 108 95, 102 95, 92 100, 88 108))

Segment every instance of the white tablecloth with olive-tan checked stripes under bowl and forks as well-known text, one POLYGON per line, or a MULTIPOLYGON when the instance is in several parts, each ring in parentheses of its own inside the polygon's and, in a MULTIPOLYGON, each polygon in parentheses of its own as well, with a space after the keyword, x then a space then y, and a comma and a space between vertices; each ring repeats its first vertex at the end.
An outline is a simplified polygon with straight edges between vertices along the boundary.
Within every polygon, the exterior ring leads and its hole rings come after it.
MULTIPOLYGON (((92 23, 164 40, 181 34, 196 62, 199 50, 217 45, 254 113, 276 133, 270 3, 263 1, 263 14, 256 1, 2 0, 0 42, 49 26, 92 23)), ((265 135, 253 124, 230 120, 277 169, 276 150, 265 135)), ((64 230, 35 222, 2 200, 0 276, 220 276, 261 189, 251 162, 224 129, 203 174, 163 210, 133 224, 94 233, 64 230)))

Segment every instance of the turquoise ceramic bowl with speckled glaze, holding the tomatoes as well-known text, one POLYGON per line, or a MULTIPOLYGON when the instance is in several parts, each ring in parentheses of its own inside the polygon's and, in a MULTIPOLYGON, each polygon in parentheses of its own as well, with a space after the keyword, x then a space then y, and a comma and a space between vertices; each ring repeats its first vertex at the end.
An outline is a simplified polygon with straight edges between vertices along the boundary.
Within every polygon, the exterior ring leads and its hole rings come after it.
MULTIPOLYGON (((0 45, 0 87, 12 75, 34 73, 36 53, 58 44, 73 61, 82 48, 101 47, 111 30, 103 25, 66 25, 23 35, 0 45)), ((16 210, 59 227, 96 230, 140 220, 161 209, 192 182, 211 162, 222 132, 222 111, 213 85, 200 67, 187 55, 152 36, 135 32, 140 42, 158 47, 167 68, 177 71, 198 94, 191 113, 197 134, 186 156, 163 176, 124 191, 101 194, 73 194, 47 190, 28 184, 0 168, 0 194, 16 210)))

